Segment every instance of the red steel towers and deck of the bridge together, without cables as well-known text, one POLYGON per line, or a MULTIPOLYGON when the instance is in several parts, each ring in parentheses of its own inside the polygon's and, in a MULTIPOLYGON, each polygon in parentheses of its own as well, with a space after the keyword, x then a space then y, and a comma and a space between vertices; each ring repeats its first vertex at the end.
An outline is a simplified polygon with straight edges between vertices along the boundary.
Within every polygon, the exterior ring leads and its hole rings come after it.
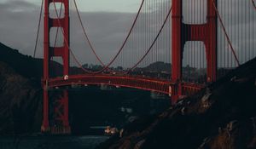
MULTIPOLYGON (((55 5, 55 4, 54 4, 55 5)), ((105 84, 125 88, 143 89, 172 96, 174 104, 180 95, 192 95, 205 86, 196 83, 182 82, 183 46, 186 41, 203 41, 207 49, 207 77, 208 82, 216 80, 216 14, 208 4, 208 22, 206 25, 184 25, 182 22, 182 0, 172 0, 172 81, 131 75, 84 74, 69 76, 69 3, 68 0, 44 1, 44 114, 41 130, 52 134, 69 134, 68 123, 68 86, 105 84), (63 18, 49 18, 49 4, 62 3, 65 7, 63 18), (50 47, 49 31, 52 27, 63 30, 64 46, 50 47), (190 37, 185 36, 183 29, 190 31, 190 37), (61 57, 63 60, 63 77, 49 77, 49 60, 61 57), (51 100, 54 112, 49 113, 49 89, 65 87, 56 99, 51 100), (65 90, 66 89, 66 90, 65 90), (49 123, 49 120, 51 123, 49 123), (52 123, 53 122, 53 123, 52 123)), ((170 13, 171 13, 170 10, 170 13)), ((55 8, 56 11, 56 8, 55 8)), ((57 14, 57 13, 56 13, 57 14)), ((138 14, 137 14, 138 15, 138 14)), ((137 19, 136 19, 137 20, 137 19)), ((166 20, 165 20, 166 21, 166 20)), ((134 25, 133 25, 134 26, 134 25)), ((132 27, 133 28, 133 27, 132 27)), ((62 88, 61 88, 62 89, 62 88)))

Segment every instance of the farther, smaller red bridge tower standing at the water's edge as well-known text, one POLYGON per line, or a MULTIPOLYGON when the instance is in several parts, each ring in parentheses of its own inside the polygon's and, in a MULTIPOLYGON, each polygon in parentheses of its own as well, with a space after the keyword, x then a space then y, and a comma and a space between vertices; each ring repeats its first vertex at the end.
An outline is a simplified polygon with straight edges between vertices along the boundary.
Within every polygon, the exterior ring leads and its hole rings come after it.
POLYGON ((55 132, 55 123, 49 124, 49 119, 53 118, 49 113, 49 60, 52 57, 61 57, 63 60, 63 76, 69 74, 69 1, 68 0, 45 0, 44 1, 44 114, 41 130, 42 132, 51 132, 53 134, 68 134, 70 127, 68 123, 68 93, 64 90, 59 101, 59 105, 55 105, 54 117, 55 121, 58 120, 57 129, 60 132, 55 132), (49 17, 49 4, 62 3, 65 7, 65 15, 60 20, 58 18, 49 17), (50 47, 49 45, 49 32, 52 27, 61 27, 64 32, 64 38, 67 43, 63 47, 50 47), (56 108, 60 107, 61 108, 56 108), (59 114, 56 114, 59 113, 59 114), (54 125, 54 126, 53 126, 54 125))

